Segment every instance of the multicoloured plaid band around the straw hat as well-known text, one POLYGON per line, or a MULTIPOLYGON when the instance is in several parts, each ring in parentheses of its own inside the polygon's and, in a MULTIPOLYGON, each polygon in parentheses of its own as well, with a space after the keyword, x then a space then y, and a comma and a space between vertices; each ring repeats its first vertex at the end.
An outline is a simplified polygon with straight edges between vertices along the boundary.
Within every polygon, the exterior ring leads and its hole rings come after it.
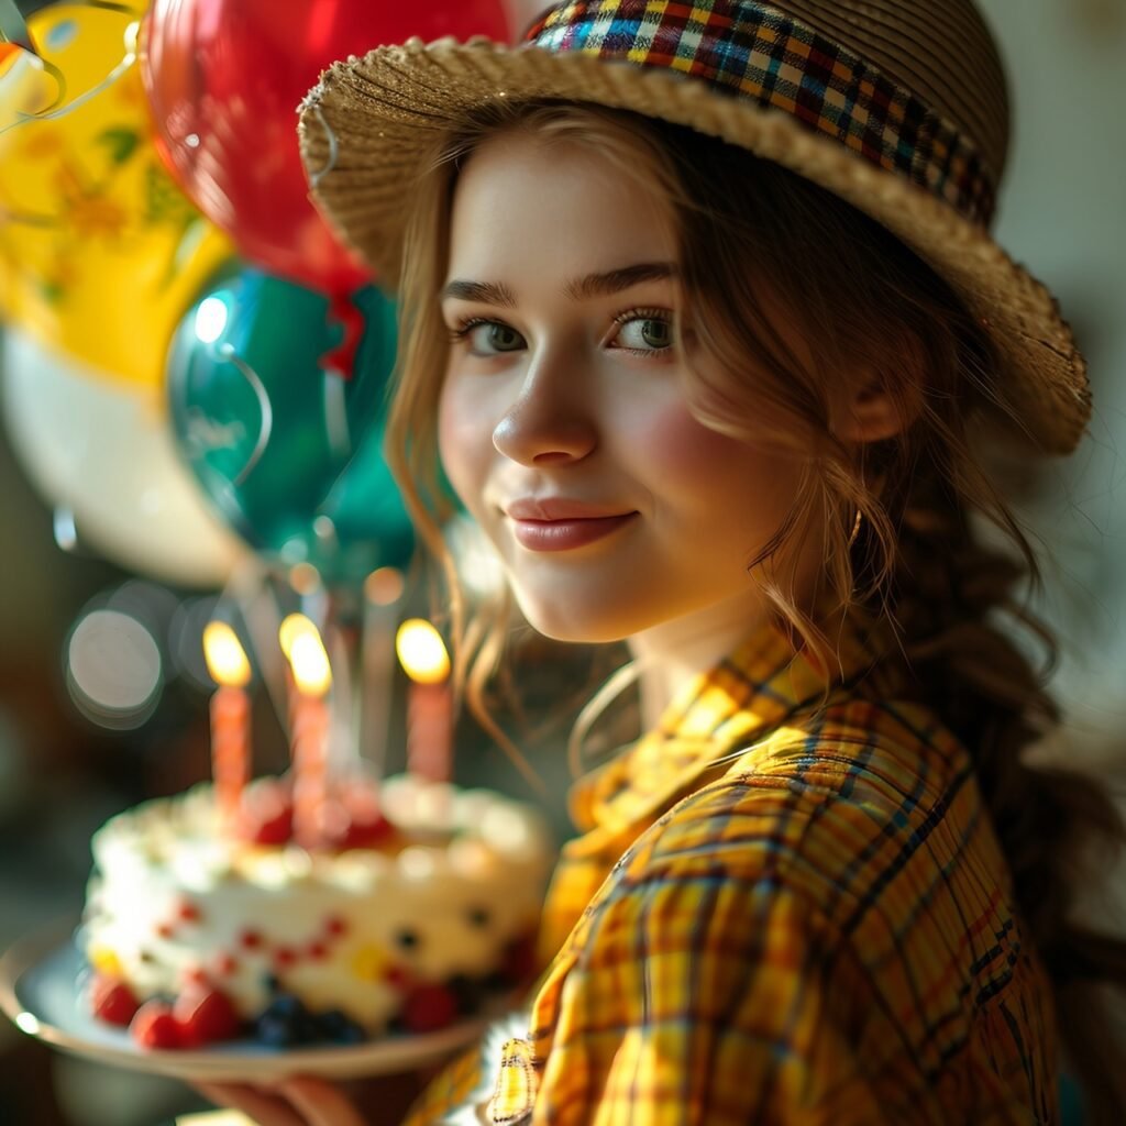
POLYGON ((861 55, 754 0, 570 0, 525 39, 678 71, 718 93, 789 114, 865 160, 905 176, 988 226, 997 185, 977 146, 942 114, 861 55))

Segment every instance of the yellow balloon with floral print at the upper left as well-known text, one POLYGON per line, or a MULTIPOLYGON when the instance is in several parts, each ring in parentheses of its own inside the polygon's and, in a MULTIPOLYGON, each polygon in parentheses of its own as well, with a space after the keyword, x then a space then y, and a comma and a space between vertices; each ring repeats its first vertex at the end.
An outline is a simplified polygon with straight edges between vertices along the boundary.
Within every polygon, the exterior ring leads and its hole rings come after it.
POLYGON ((141 15, 52 5, 28 18, 41 59, 3 61, 0 318, 111 379, 158 385, 184 311, 233 249, 153 146, 141 15))

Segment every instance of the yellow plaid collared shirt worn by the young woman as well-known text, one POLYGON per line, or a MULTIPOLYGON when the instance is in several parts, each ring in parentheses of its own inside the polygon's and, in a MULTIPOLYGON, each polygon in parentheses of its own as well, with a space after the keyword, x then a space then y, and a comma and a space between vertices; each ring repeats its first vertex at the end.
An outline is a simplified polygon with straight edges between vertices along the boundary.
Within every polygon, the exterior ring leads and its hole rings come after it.
POLYGON ((774 629, 584 778, 530 1012, 410 1126, 1057 1120, 1054 1013, 965 748, 855 616, 774 629))

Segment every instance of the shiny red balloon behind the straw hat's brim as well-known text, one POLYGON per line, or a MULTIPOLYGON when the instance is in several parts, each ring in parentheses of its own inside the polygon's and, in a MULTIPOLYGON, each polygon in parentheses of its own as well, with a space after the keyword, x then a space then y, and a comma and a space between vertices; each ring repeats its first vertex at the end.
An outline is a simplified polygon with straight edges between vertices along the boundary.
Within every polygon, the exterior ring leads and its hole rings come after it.
POLYGON ((141 75, 157 146, 251 261, 328 293, 369 277, 309 202, 297 104, 337 59, 412 35, 507 41, 503 0, 153 0, 141 75))

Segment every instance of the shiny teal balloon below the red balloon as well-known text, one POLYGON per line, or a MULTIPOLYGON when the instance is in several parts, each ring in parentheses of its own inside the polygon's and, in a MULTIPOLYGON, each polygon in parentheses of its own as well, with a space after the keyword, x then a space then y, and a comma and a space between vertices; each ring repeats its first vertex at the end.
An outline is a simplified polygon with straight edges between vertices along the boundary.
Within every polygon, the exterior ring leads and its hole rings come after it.
POLYGON ((351 300, 350 377, 324 363, 345 336, 329 298, 252 268, 207 287, 168 358, 177 443, 220 516, 271 563, 312 563, 330 586, 401 566, 414 546, 382 454, 395 307, 375 287, 351 300))

